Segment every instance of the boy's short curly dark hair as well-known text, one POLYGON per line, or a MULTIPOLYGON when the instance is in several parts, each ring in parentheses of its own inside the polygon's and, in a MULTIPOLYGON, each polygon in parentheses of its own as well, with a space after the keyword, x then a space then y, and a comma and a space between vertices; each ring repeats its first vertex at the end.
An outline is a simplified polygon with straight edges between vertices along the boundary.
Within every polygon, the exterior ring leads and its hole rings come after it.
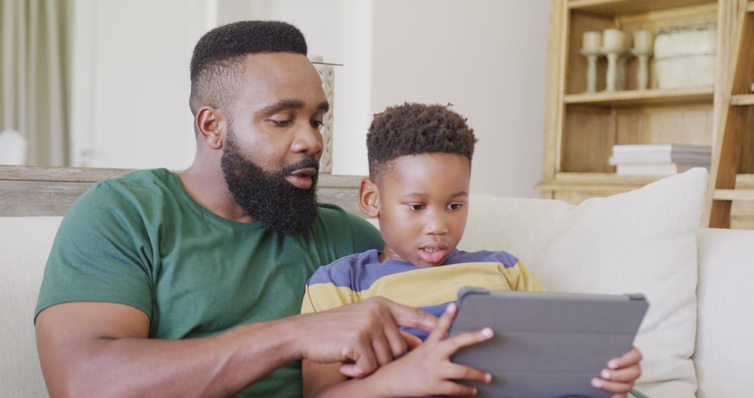
POLYGON ((470 162, 474 130, 449 107, 404 103, 376 114, 366 134, 369 176, 379 181, 391 161, 406 155, 445 153, 470 162))

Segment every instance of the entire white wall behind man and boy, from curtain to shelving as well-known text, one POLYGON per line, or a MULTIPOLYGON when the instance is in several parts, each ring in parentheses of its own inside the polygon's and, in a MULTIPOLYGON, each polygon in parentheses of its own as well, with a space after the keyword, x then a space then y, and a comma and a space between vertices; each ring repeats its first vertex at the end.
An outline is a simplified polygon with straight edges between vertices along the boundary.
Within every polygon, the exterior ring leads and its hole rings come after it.
POLYGON ((189 166, 192 48, 218 23, 259 18, 293 23, 310 54, 344 64, 333 173, 367 173, 366 130, 385 106, 453 103, 480 137, 472 191, 537 196, 547 8, 546 0, 75 0, 75 165, 189 166))

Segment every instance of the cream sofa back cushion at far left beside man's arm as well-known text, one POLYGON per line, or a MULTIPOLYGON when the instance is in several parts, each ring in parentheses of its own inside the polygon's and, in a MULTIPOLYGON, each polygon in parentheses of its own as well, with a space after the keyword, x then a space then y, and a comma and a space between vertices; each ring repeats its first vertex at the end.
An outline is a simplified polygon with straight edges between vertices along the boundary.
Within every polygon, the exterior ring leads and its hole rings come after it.
POLYGON ((48 396, 34 331, 34 309, 63 217, 0 217, 0 386, 2 396, 48 396))

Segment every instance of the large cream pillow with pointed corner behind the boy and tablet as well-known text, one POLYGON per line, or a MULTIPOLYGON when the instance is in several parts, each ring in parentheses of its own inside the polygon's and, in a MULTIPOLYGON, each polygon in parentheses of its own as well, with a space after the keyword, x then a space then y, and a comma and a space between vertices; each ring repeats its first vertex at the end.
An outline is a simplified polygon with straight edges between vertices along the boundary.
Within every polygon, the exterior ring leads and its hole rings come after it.
POLYGON ((507 250, 553 292, 642 292, 650 307, 636 346, 650 396, 694 396, 697 246, 706 170, 593 198, 474 196, 463 250, 507 250))

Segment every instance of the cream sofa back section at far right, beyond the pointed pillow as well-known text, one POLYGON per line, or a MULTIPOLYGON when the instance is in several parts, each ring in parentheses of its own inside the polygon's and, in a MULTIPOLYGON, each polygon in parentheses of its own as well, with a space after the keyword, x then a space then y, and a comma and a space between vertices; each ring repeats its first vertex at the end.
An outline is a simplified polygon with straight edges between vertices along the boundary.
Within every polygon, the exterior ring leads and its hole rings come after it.
POLYGON ((697 396, 752 396, 754 231, 700 229, 697 237, 697 396))

